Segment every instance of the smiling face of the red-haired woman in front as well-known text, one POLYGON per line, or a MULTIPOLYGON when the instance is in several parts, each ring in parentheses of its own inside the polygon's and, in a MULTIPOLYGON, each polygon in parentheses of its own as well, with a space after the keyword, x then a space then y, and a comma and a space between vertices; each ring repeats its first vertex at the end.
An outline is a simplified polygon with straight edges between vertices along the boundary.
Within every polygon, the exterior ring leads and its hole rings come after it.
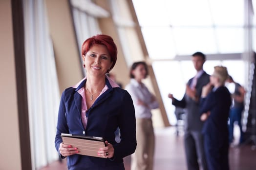
POLYGON ((107 70, 111 67, 113 62, 107 47, 104 45, 95 44, 85 55, 83 55, 86 74, 95 76, 104 76, 107 70))

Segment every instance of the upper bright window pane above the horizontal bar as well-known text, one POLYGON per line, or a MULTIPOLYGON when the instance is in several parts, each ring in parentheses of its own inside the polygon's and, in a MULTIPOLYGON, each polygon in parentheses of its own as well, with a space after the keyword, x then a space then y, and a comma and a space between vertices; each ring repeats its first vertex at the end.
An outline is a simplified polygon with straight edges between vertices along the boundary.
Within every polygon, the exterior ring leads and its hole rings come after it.
POLYGON ((133 0, 133 4, 151 58, 244 50, 244 0, 133 0), (165 55, 159 55, 159 49, 165 55))

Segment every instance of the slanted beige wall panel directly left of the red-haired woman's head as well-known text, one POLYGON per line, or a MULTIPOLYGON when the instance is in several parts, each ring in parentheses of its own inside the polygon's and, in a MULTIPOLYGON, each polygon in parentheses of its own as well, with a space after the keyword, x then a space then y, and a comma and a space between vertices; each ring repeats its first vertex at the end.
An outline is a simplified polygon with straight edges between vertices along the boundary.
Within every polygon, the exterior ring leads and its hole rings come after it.
POLYGON ((60 92, 83 78, 68 0, 45 0, 60 92))

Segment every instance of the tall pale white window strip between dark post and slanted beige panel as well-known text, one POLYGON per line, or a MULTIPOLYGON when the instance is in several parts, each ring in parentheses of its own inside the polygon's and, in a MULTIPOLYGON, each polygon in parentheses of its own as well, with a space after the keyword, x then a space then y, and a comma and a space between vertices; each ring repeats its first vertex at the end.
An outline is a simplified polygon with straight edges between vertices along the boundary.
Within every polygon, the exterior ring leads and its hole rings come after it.
MULTIPOLYGON (((43 0, 23 0, 32 169, 58 159, 54 147, 59 85, 43 0)), ((28 151, 29 152, 29 151, 28 151)))

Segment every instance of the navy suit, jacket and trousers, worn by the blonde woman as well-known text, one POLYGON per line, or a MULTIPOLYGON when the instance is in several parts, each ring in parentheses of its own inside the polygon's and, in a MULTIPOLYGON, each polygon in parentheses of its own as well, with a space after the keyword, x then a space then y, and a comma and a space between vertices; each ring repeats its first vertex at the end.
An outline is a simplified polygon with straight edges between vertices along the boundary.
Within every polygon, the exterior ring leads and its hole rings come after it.
POLYGON ((228 117, 231 95, 225 86, 213 89, 201 99, 200 113, 211 112, 204 123, 204 149, 209 170, 229 170, 228 117))

